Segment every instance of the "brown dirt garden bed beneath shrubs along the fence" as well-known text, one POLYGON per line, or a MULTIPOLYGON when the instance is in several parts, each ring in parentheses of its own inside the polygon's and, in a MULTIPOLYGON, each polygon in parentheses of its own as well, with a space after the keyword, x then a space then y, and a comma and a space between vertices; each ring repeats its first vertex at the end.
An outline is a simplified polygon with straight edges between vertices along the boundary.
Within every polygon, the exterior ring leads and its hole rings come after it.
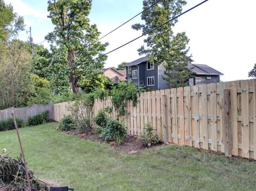
MULTIPOLYGON (((65 132, 65 133, 68 134, 67 132, 65 132)), ((145 145, 143 145, 142 141, 138 140, 133 135, 127 135, 125 141, 121 145, 116 145, 116 143, 106 142, 106 141, 100 139, 93 132, 89 132, 88 135, 77 134, 76 132, 69 132, 69 134, 73 135, 75 137, 78 137, 80 139, 85 139, 85 140, 90 140, 90 141, 94 141, 94 142, 97 142, 97 143, 106 144, 106 145, 109 145, 109 146, 113 147, 116 150, 127 152, 129 154, 133 154, 133 153, 137 153, 137 152, 142 152, 142 151, 144 151, 146 149, 150 149, 150 148, 153 148, 155 146, 161 145, 161 143, 159 143, 157 145, 145 146, 145 145)))

